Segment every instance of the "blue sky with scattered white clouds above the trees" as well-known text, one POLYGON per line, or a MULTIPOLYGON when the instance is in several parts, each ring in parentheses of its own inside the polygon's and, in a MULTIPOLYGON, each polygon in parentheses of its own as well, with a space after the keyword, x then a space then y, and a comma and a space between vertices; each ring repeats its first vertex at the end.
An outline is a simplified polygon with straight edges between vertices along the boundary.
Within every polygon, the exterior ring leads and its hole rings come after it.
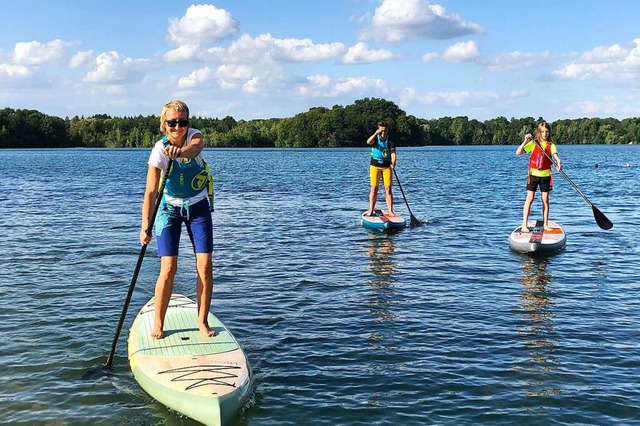
POLYGON ((637 0, 0 0, 0 108, 58 117, 640 116, 637 0))

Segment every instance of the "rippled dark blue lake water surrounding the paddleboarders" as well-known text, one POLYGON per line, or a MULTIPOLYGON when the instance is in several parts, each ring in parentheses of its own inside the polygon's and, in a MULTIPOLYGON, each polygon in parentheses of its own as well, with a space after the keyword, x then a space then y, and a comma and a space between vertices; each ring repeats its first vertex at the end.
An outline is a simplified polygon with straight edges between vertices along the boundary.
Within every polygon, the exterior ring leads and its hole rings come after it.
MULTIPOLYGON (((525 195, 515 148, 399 148, 398 176, 426 224, 393 234, 359 223, 366 148, 205 151, 212 310, 255 375, 233 424, 637 424, 640 147, 559 147, 614 228, 600 230, 556 174, 551 219, 568 242, 549 257, 509 250, 525 195)), ((155 243, 113 374, 82 378, 111 349, 148 154, 0 150, 0 422, 194 424, 151 399, 127 361, 155 243)), ((532 218, 540 211, 538 196, 532 218)), ((186 238, 174 291, 195 293, 186 238)))

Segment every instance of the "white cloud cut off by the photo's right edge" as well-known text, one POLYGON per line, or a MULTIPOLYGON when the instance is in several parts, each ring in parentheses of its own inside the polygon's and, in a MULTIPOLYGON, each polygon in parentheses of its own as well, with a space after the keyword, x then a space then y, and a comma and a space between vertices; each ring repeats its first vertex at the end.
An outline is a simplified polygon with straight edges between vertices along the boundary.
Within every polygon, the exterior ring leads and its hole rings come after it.
POLYGON ((591 78, 612 81, 636 80, 640 78, 640 38, 633 45, 621 47, 598 46, 585 52, 572 63, 553 71, 553 76, 565 80, 587 80, 591 78))

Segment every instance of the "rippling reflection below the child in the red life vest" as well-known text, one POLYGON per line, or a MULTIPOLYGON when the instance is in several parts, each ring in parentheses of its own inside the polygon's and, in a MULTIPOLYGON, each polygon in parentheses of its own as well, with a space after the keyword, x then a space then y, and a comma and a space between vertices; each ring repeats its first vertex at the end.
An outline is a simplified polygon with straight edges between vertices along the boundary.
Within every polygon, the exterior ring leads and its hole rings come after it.
POLYGON ((548 263, 546 258, 522 257, 522 321, 518 335, 527 355, 519 369, 525 373, 527 395, 534 397, 560 392, 553 387, 552 381, 553 372, 558 369, 555 357, 558 342, 553 328, 555 302, 550 290, 553 276, 547 271, 548 263))

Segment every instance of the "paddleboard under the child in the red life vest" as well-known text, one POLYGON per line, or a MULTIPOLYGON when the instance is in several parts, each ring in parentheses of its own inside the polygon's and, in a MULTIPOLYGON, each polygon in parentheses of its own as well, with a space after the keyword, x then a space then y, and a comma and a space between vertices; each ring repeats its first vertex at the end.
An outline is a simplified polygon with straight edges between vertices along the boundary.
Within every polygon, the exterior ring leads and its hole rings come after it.
POLYGON ((555 222, 549 221, 551 231, 545 231, 543 222, 529 221, 529 232, 522 232, 518 226, 509 235, 509 247, 520 253, 551 253, 558 251, 567 243, 564 229, 555 222))

